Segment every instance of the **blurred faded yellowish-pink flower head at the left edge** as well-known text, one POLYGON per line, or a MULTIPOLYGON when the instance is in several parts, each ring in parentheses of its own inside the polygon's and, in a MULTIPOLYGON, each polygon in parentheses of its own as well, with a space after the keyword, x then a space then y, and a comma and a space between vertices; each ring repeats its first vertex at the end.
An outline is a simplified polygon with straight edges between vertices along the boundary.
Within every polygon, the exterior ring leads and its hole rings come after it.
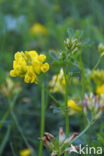
POLYGON ((6 78, 6 82, 1 85, 0 92, 7 97, 13 97, 14 94, 21 92, 22 88, 20 87, 20 83, 14 82, 9 77, 6 78))

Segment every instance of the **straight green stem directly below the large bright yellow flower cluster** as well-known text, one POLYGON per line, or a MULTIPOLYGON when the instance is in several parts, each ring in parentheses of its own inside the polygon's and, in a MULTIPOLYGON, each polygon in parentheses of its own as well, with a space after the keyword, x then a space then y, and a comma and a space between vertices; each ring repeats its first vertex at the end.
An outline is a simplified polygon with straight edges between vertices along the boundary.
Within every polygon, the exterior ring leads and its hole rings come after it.
MULTIPOLYGON (((44 85, 41 85, 41 131, 40 131, 40 137, 42 138, 44 136, 44 127, 45 127, 45 92, 44 92, 44 85)), ((42 150, 43 150, 43 142, 40 141, 39 146, 39 155, 42 156, 42 150)))

